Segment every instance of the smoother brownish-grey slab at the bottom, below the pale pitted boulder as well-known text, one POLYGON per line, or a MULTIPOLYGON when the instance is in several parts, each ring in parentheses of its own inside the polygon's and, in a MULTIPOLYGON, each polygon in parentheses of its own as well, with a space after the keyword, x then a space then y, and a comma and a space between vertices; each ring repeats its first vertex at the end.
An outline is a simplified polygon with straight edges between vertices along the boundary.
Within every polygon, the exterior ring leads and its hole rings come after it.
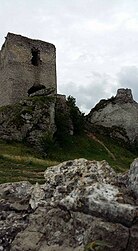
POLYGON ((112 242, 112 250, 115 250, 117 243, 121 242, 119 249, 116 250, 122 250, 127 245, 128 229, 87 214, 40 207, 30 216, 28 227, 18 233, 11 250, 28 251, 30 248, 30 250, 48 251, 55 246, 57 250, 62 251, 66 249, 83 251, 84 244, 96 239, 112 242))

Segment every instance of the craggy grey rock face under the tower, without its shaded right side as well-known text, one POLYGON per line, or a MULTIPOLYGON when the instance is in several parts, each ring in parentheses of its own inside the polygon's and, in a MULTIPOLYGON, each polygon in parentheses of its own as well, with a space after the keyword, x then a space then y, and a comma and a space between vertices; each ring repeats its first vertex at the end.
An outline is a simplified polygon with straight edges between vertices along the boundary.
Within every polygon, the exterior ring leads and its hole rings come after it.
POLYGON ((55 132, 55 97, 36 96, 0 108, 0 138, 41 146, 55 132))

